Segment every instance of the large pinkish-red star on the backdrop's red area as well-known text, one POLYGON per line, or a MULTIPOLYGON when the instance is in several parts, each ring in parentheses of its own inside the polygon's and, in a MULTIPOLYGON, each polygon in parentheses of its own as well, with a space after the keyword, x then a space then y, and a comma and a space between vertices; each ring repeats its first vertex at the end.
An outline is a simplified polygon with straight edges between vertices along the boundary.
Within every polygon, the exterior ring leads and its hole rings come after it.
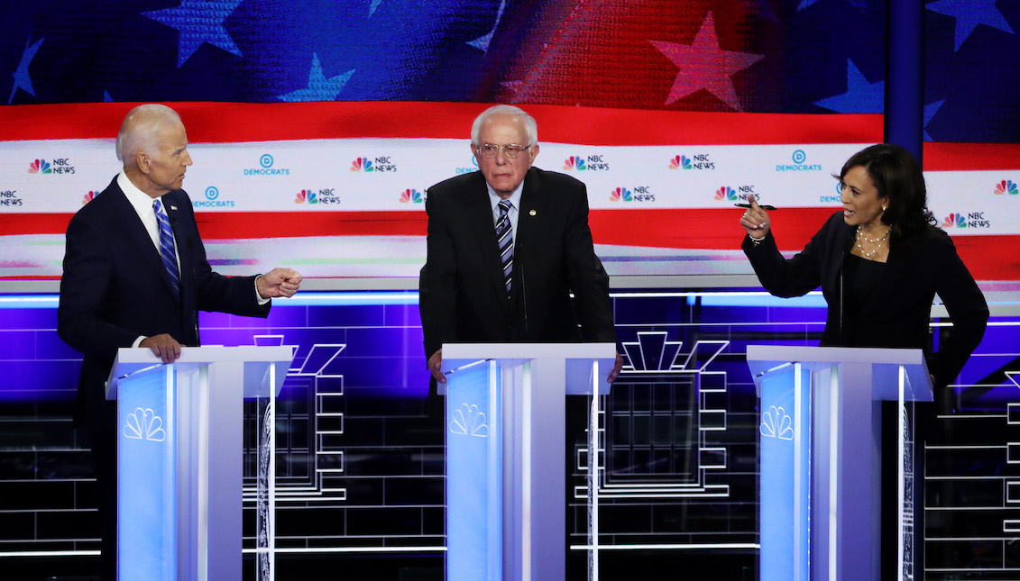
POLYGON ((707 89, 727 105, 741 111, 741 102, 730 76, 765 57, 761 54, 721 50, 719 38, 715 34, 712 12, 705 17, 701 30, 695 36, 694 44, 649 42, 680 68, 676 73, 676 81, 673 82, 673 88, 669 91, 669 97, 666 98, 666 105, 696 91, 707 89))

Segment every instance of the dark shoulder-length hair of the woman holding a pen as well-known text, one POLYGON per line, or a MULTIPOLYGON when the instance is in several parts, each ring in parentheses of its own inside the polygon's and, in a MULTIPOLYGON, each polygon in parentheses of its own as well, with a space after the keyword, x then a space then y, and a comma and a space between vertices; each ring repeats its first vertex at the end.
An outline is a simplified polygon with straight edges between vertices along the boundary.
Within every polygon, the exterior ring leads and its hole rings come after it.
POLYGON ((881 221, 888 224, 890 243, 906 243, 936 223, 928 210, 927 191, 921 166, 914 156, 894 144, 877 144, 855 153, 843 164, 839 180, 854 167, 861 166, 887 200, 881 221))

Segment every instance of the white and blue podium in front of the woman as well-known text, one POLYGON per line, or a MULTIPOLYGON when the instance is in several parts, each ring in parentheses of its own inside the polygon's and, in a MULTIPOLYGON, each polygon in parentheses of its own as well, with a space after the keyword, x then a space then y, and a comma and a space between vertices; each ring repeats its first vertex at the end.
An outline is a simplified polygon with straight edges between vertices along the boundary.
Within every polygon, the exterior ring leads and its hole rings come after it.
POLYGON ((914 578, 913 425, 905 406, 932 401, 923 353, 749 346, 748 366, 761 398, 760 579, 892 578, 879 571, 881 550, 894 548, 880 545, 884 478, 897 478, 899 490, 896 578, 914 578), (882 401, 898 403, 897 474, 881 474, 882 401))

